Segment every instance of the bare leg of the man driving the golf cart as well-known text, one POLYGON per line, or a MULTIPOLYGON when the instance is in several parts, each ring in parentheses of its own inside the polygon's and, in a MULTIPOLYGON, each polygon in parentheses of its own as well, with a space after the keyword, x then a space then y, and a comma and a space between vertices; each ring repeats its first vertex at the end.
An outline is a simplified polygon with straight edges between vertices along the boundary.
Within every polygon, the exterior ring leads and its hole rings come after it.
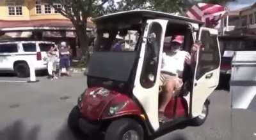
POLYGON ((163 95, 161 95, 162 99, 159 106, 160 112, 164 112, 164 109, 166 108, 168 102, 170 102, 170 100, 172 99, 173 92, 175 91, 175 86, 176 81, 174 78, 168 79, 168 81, 164 83, 163 95))

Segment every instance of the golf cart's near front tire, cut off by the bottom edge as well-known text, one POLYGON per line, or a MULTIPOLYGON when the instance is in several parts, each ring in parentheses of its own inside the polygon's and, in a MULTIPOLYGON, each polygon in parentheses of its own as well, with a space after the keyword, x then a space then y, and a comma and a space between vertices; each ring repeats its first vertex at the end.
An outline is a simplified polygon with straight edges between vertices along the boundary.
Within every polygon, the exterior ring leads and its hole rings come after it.
POLYGON ((121 118, 110 123, 106 130, 105 140, 119 140, 127 133, 133 133, 138 140, 144 140, 143 127, 132 118, 121 118))

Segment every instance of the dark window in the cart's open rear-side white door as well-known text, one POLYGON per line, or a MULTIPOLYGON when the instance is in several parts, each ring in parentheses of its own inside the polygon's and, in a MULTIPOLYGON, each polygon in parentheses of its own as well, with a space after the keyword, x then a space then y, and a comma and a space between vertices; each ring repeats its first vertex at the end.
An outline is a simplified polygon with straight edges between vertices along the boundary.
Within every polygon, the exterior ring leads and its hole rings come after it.
POLYGON ((217 69, 220 65, 220 54, 217 36, 210 36, 209 31, 202 31, 202 46, 199 50, 198 67, 196 70, 196 80, 204 76, 205 73, 217 69))

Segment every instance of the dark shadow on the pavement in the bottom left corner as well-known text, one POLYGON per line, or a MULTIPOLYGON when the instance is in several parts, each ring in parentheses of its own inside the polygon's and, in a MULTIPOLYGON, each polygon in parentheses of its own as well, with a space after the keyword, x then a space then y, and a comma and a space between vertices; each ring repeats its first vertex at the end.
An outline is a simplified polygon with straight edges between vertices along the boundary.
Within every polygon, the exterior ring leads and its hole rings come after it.
POLYGON ((24 122, 17 120, 12 125, 8 125, 0 130, 0 139, 3 140, 36 140, 40 132, 40 126, 36 125, 26 132, 24 122))

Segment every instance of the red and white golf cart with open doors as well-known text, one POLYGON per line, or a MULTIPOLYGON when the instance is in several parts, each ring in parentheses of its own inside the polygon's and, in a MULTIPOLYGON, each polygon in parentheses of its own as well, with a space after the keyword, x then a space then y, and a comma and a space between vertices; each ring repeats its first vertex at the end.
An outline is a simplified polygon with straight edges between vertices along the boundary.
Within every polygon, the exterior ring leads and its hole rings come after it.
POLYGON ((190 120, 202 125, 208 115, 209 95, 218 85, 220 49, 218 32, 186 17, 148 10, 125 11, 93 20, 97 39, 88 66, 88 88, 68 116, 74 132, 102 132, 106 140, 147 139, 190 120), (135 32, 134 50, 111 51, 116 36, 135 32), (184 36, 182 50, 202 41, 193 66, 185 64, 180 93, 172 97, 159 122, 159 76, 164 38, 184 36))

